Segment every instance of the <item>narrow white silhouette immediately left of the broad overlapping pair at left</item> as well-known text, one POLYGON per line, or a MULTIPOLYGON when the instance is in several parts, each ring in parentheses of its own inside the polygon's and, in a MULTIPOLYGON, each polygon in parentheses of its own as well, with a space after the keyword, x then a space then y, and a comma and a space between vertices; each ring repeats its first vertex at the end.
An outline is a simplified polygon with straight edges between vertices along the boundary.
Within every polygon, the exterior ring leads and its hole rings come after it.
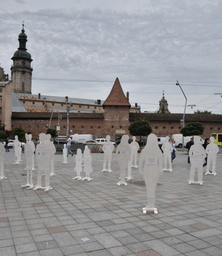
POLYGON ((34 187, 32 182, 32 156, 34 152, 33 152, 32 145, 29 141, 29 135, 27 133, 25 133, 25 139, 26 139, 26 143, 25 143, 24 153, 25 153, 25 160, 26 160, 27 181, 26 181, 26 185, 23 185, 21 187, 31 189, 34 187), (30 180, 29 180, 29 177, 30 177, 30 180))

